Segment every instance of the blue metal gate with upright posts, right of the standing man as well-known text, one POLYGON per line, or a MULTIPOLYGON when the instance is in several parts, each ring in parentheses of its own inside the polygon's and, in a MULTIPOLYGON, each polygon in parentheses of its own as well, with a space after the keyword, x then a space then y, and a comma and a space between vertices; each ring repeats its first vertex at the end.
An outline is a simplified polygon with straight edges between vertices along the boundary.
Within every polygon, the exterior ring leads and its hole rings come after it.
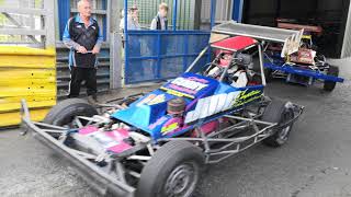
MULTIPOLYGON (((178 0, 173 0, 172 24, 177 23, 178 0)), ((214 25, 216 0, 211 1, 211 24, 214 25)), ((128 10, 128 0, 124 0, 128 10)), ((127 12, 125 12, 127 24, 127 12)), ((208 44, 210 31, 128 31, 125 26, 125 84, 160 81, 184 72, 199 53, 208 44)), ((208 61, 208 55, 197 63, 208 61)))

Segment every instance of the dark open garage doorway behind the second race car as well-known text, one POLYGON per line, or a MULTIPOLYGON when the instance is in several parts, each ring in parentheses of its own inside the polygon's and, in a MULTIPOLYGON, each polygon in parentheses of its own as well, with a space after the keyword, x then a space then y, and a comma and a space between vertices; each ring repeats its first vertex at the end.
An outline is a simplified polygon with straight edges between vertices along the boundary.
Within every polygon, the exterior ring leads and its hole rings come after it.
POLYGON ((276 19, 320 25, 317 45, 328 57, 340 57, 350 0, 245 0, 244 23, 276 26, 276 19), (346 7, 347 4, 347 7, 346 7))

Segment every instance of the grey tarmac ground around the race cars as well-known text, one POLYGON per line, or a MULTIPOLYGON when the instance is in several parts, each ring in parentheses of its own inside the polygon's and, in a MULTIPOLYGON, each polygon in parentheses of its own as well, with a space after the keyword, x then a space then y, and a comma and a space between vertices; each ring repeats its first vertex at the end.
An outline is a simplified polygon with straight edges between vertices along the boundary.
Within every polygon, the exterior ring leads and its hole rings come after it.
MULTIPOLYGON (((268 95, 306 107, 290 141, 279 149, 258 144, 208 166, 195 197, 351 196, 351 59, 335 65, 346 82, 332 93, 320 85, 270 83, 268 95)), ((98 195, 54 151, 7 129, 0 130, 0 196, 98 195)))

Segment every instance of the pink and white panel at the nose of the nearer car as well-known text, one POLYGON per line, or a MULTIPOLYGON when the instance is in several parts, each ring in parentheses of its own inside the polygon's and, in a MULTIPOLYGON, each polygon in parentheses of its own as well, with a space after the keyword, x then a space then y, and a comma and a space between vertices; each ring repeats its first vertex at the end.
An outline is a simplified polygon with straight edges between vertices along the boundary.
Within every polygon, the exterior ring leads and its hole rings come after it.
MULTIPOLYGON (((129 137, 128 130, 126 129, 115 129, 112 131, 99 131, 98 127, 87 126, 84 128, 79 129, 79 134, 83 136, 90 136, 94 138, 94 136, 99 135, 99 138, 103 138, 103 141, 106 143, 102 143, 107 151, 112 151, 114 153, 121 153, 125 150, 132 148, 131 144, 124 142, 123 140, 129 137)), ((101 142, 99 140, 99 142, 101 142)))

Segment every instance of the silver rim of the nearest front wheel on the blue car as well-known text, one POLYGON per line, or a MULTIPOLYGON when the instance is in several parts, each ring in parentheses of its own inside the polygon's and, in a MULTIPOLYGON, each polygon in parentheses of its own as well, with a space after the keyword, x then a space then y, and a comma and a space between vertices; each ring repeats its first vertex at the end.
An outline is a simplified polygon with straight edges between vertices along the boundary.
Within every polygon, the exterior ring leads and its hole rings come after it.
POLYGON ((195 189, 199 167, 195 163, 178 165, 167 178, 165 192, 167 197, 189 197, 195 189))

